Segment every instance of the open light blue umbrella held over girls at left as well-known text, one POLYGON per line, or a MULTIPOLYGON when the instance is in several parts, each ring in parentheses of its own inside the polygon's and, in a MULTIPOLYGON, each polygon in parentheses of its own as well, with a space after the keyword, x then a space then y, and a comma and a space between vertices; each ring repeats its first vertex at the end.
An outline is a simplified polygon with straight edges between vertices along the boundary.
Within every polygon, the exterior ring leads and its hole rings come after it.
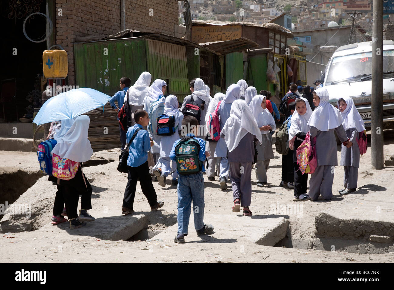
POLYGON ((37 125, 72 119, 104 106, 110 96, 91 88, 72 89, 48 99, 35 116, 37 125))

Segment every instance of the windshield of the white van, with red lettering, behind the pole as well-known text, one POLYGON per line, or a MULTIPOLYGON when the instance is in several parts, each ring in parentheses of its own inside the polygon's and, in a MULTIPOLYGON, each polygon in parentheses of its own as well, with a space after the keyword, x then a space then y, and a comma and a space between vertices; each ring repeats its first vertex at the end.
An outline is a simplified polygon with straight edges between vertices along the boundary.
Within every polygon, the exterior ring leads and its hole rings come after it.
MULTIPOLYGON (((392 71, 394 67, 394 50, 383 51, 383 72, 392 71)), ((366 75, 370 75, 372 70, 372 52, 363 52, 337 56, 333 58, 329 67, 328 75, 325 79, 325 85, 331 82, 340 82, 341 80, 358 81, 366 75)), ((392 77, 392 75, 383 75, 392 77)))

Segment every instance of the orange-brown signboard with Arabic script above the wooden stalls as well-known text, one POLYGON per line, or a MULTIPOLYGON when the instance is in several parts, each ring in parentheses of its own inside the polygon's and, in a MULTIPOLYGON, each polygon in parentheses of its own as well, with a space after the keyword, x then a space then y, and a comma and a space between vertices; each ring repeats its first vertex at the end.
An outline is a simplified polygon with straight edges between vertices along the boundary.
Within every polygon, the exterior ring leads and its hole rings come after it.
POLYGON ((191 41, 195 43, 225 41, 240 37, 242 37, 242 27, 240 25, 191 27, 191 41))

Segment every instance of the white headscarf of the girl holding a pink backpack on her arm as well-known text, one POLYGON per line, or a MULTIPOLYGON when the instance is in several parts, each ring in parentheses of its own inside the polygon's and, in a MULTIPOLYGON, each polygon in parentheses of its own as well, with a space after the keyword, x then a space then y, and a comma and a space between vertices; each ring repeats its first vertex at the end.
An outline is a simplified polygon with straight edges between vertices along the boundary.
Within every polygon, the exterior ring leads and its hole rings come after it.
POLYGON ((329 94, 326 88, 319 88, 314 90, 316 95, 320 98, 319 106, 313 111, 310 116, 308 125, 317 128, 320 131, 328 131, 335 129, 342 124, 342 116, 338 109, 331 105, 329 94))

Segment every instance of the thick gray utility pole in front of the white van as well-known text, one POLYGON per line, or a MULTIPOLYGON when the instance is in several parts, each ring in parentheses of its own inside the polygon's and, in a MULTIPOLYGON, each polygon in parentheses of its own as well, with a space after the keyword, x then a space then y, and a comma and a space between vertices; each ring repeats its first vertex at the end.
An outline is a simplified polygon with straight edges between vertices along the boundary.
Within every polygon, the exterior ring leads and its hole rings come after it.
POLYGON ((374 0, 372 26, 371 165, 383 169, 383 1, 374 0))

